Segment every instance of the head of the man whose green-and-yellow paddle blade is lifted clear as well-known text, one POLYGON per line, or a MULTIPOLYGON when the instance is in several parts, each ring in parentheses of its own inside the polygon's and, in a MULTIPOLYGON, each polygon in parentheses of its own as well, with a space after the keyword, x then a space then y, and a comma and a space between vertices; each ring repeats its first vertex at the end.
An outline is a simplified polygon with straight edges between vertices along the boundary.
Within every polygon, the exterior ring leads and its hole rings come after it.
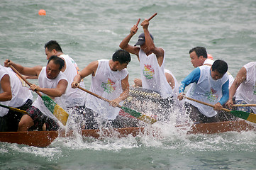
POLYGON ((55 79, 59 75, 60 70, 64 67, 65 62, 62 58, 52 55, 46 66, 46 76, 48 79, 55 79))

